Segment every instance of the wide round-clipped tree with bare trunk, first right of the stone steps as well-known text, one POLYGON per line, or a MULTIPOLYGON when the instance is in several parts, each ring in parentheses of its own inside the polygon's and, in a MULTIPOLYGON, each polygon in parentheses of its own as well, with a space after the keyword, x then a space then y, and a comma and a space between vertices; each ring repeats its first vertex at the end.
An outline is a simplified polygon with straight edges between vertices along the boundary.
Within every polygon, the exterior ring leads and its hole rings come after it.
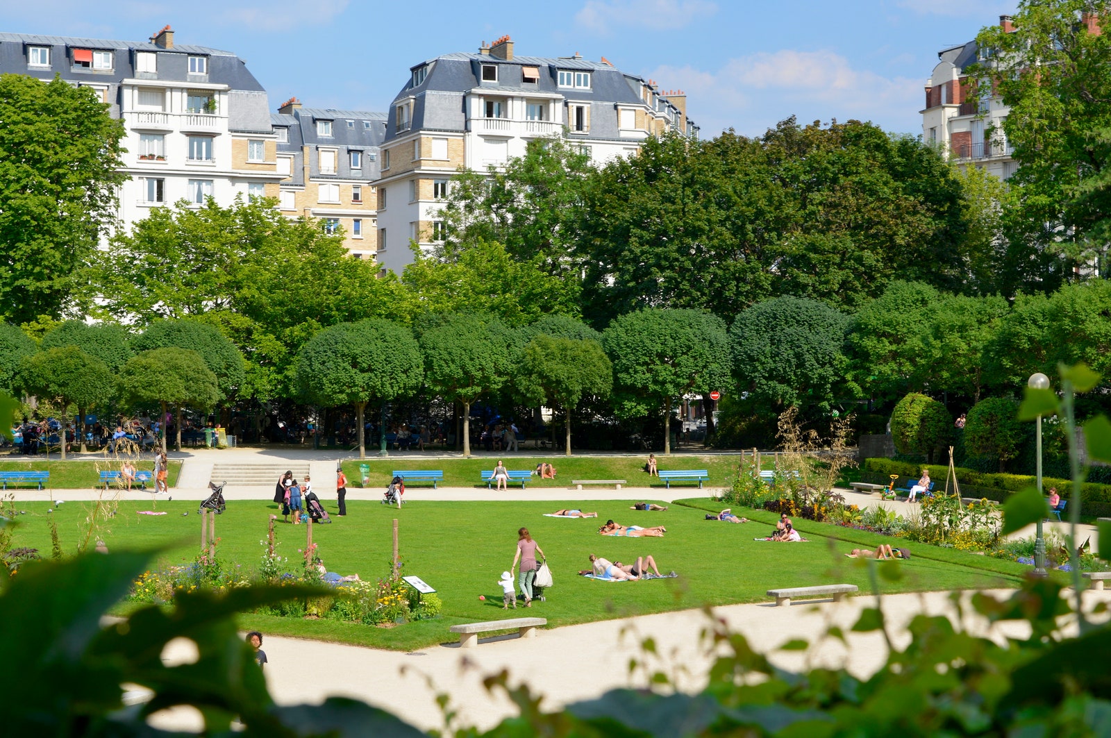
MULTIPOLYGON (((297 387, 306 400, 326 408, 354 406, 360 459, 367 456, 367 403, 416 392, 423 373, 420 347, 409 329, 381 318, 324 328, 297 353, 297 387)), ((383 430, 383 455, 384 437, 383 430)))

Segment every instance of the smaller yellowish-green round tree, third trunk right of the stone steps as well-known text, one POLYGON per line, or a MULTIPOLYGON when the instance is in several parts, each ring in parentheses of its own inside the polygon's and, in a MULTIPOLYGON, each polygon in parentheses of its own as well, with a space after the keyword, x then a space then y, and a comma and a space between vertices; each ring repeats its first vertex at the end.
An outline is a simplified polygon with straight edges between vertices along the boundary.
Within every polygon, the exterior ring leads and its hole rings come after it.
POLYGON ((584 395, 605 397, 613 387, 613 367, 598 341, 541 333, 521 356, 517 390, 536 405, 563 408, 567 456, 571 456, 571 412, 584 395))

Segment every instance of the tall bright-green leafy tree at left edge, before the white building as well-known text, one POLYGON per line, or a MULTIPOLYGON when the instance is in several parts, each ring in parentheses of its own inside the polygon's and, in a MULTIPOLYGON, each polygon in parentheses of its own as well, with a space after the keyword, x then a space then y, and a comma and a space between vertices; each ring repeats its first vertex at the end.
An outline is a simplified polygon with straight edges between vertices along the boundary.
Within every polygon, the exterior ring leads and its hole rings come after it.
POLYGON ((0 74, 0 320, 58 317, 114 215, 123 124, 88 87, 0 74))

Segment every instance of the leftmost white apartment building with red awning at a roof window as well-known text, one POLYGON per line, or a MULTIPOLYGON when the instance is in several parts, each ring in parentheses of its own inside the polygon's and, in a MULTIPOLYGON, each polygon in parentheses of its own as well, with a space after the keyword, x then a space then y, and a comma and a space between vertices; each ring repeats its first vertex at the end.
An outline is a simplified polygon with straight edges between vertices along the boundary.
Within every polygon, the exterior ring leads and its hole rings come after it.
POLYGON ((266 90, 229 51, 149 42, 0 33, 0 72, 96 90, 127 134, 119 225, 178 200, 222 206, 279 196, 277 137, 266 90))

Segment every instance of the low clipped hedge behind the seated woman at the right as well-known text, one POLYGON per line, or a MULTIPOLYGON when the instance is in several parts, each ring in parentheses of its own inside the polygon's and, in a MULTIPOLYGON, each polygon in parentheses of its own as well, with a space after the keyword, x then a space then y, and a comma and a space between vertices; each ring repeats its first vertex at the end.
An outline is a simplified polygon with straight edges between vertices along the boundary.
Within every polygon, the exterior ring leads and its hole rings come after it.
MULTIPOLYGON (((899 475, 909 479, 918 479, 922 469, 929 469, 930 478, 935 482, 934 489, 945 488, 945 477, 949 476, 949 467, 938 463, 910 463, 907 461, 895 461, 893 459, 864 459, 861 465, 861 479, 875 485, 887 485, 891 481, 891 475, 899 475)), ((961 497, 987 498, 997 502, 1005 502, 1007 498, 1027 487, 1037 483, 1037 479, 1029 475, 1005 475, 1005 473, 983 473, 974 469, 957 467, 957 481, 961 487, 961 497)), ((1057 491, 1062 498, 1069 499, 1072 493, 1072 482, 1068 479, 1055 477, 1042 477, 1042 489, 1057 487, 1057 491)), ((1097 517, 1111 517, 1111 485, 1098 485, 1084 482, 1081 486, 1084 515, 1097 517)))

